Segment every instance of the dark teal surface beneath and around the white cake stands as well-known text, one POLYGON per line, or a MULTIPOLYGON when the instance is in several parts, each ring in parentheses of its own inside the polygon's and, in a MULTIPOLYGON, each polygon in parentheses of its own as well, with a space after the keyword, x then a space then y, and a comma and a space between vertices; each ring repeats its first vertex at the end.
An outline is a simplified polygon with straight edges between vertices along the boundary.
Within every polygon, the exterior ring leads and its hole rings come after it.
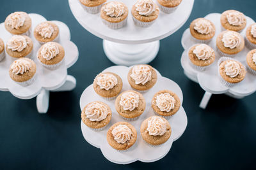
POLYGON ((202 110, 198 104, 204 90, 188 80, 180 66, 180 38, 193 19, 234 9, 256 20, 255 4, 255 0, 195 0, 188 22, 161 40, 150 65, 180 85, 188 127, 163 159, 122 166, 109 162, 98 148, 88 144, 80 128, 79 97, 100 71, 113 66, 103 52, 102 39, 79 25, 67 0, 1 0, 1 22, 13 11, 65 22, 80 55, 68 69, 76 77, 76 89, 52 92, 47 114, 37 113, 35 98, 21 100, 10 92, 0 92, 0 169, 255 169, 256 94, 239 100, 214 95, 202 110))

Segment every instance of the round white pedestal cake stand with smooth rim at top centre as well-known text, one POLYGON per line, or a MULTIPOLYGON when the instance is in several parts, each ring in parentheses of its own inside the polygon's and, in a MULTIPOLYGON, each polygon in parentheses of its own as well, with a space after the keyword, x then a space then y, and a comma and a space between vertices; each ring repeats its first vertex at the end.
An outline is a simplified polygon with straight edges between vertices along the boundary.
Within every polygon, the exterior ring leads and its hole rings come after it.
POLYGON ((159 40, 180 29, 192 11, 194 0, 183 0, 171 14, 159 13, 156 22, 147 28, 134 25, 131 8, 136 0, 119 0, 127 5, 127 25, 121 29, 109 29, 102 23, 100 13, 84 11, 79 0, 68 0, 70 10, 77 21, 95 36, 104 39, 103 49, 109 60, 117 65, 132 66, 152 61, 159 51, 159 40))

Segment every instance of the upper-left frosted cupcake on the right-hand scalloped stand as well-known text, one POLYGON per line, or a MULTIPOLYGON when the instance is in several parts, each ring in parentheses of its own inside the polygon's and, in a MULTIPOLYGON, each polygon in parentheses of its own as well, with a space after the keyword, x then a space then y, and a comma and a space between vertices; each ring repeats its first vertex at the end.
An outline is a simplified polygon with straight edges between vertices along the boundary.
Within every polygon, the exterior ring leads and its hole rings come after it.
POLYGON ((211 20, 197 18, 189 26, 191 38, 195 43, 209 43, 215 35, 215 25, 211 20))

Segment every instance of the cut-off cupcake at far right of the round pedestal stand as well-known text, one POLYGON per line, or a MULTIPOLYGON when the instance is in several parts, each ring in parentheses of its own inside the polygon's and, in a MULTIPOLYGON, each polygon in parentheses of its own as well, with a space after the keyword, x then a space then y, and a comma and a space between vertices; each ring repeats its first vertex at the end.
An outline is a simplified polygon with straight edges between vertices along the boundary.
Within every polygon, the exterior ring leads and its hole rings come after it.
POLYGON ((164 13, 172 13, 177 10, 182 0, 157 0, 157 4, 164 13))

